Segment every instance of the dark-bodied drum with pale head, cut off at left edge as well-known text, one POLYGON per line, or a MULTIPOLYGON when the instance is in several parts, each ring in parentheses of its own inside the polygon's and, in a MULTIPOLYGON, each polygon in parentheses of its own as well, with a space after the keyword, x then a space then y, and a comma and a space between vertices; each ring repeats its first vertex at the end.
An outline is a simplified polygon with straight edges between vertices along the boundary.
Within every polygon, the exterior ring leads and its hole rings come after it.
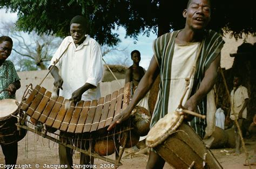
POLYGON ((0 144, 11 144, 23 139, 26 130, 17 130, 18 106, 15 99, 0 100, 0 144))

